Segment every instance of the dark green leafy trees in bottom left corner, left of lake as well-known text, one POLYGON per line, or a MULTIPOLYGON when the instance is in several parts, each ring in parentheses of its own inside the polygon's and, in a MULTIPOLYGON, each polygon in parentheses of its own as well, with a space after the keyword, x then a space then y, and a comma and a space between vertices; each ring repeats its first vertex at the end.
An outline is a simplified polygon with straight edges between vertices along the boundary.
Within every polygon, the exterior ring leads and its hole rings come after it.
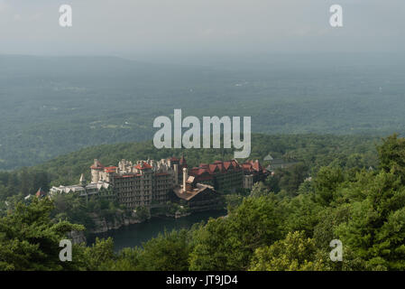
POLYGON ((82 226, 67 221, 52 223, 51 200, 18 203, 14 211, 0 219, 0 270, 72 270, 74 262, 61 262, 60 240, 82 226))

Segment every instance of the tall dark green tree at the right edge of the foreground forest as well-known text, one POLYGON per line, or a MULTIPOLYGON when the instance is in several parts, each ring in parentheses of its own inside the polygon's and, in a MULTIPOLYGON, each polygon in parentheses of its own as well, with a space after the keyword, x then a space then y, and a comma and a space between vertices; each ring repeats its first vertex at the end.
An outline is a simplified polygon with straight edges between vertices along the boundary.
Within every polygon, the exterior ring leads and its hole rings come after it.
POLYGON ((365 198, 348 205, 350 217, 335 228, 336 237, 368 269, 405 269, 405 188, 400 176, 382 171, 361 187, 354 183, 346 189, 359 190, 365 198))

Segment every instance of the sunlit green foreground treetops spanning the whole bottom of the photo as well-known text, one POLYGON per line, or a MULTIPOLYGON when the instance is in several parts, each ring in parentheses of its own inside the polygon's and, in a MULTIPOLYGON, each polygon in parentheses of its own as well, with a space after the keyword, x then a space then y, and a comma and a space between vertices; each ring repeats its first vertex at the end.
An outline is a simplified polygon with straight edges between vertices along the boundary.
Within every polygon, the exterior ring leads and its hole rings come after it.
POLYGON ((73 262, 59 262, 59 240, 82 228, 53 223, 46 198, 19 204, 0 219, 0 270, 404 270, 405 139, 377 151, 377 170, 324 166, 294 196, 257 184, 227 218, 118 254, 111 238, 75 245, 73 262), (329 258, 333 239, 342 262, 329 258))

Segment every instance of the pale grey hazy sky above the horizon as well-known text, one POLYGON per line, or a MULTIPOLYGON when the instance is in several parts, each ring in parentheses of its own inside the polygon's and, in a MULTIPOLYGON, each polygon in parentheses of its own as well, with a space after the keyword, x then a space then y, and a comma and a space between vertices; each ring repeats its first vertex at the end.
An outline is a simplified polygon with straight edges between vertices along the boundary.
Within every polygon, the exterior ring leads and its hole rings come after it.
POLYGON ((404 51, 404 0, 0 0, 0 53, 116 55, 404 51), (59 6, 73 27, 59 25, 59 6), (344 27, 329 7, 344 8, 344 27))

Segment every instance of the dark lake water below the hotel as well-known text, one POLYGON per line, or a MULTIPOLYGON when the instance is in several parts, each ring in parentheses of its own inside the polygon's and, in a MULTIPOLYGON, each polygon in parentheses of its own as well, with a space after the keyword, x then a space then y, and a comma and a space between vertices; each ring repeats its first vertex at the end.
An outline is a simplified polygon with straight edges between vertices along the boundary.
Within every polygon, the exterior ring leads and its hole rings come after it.
POLYGON ((121 228, 110 230, 106 233, 92 234, 87 238, 87 245, 93 244, 98 238, 114 238, 115 251, 119 251, 124 247, 142 246, 143 242, 151 238, 157 237, 159 233, 163 233, 166 229, 191 228, 193 224, 199 223, 202 220, 207 221, 209 218, 218 218, 225 216, 226 211, 207 211, 195 213, 187 217, 174 219, 168 217, 153 217, 141 224, 133 224, 123 226, 121 228))

